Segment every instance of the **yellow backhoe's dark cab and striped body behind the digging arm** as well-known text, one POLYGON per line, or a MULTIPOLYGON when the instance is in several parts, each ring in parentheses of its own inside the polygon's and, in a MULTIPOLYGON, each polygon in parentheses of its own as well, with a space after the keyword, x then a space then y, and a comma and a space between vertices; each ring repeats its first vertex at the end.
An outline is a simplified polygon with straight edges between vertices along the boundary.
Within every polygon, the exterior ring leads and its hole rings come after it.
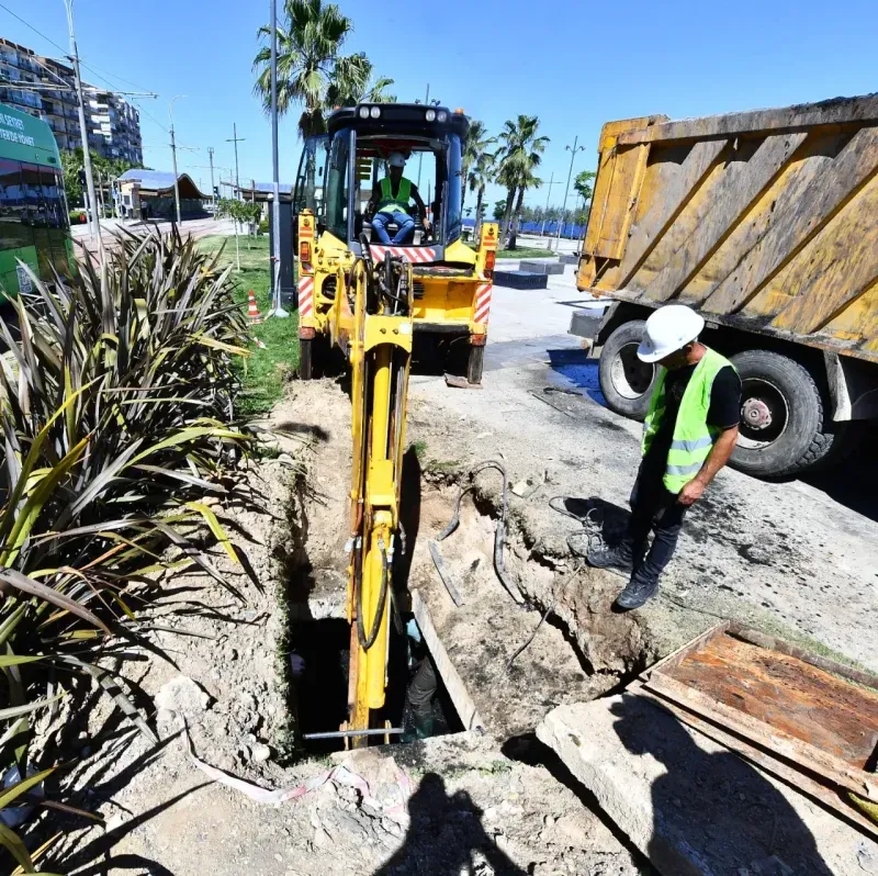
MULTIPOLYGON (((338 260, 380 261, 390 251, 413 268, 414 330, 434 336, 437 349, 465 349, 468 380, 480 383, 497 228, 485 223, 476 249, 461 242, 469 120, 442 106, 360 104, 336 110, 327 128, 305 142, 293 193, 294 214, 308 210, 314 224, 313 249, 306 246, 303 252, 295 238, 302 375, 319 369, 326 344, 345 346, 344 327, 335 318, 338 260), (428 218, 425 227, 413 196, 414 228, 396 245, 382 242, 372 224, 392 155, 405 158, 403 176, 428 218)), ((393 240, 398 224, 383 224, 393 240)))

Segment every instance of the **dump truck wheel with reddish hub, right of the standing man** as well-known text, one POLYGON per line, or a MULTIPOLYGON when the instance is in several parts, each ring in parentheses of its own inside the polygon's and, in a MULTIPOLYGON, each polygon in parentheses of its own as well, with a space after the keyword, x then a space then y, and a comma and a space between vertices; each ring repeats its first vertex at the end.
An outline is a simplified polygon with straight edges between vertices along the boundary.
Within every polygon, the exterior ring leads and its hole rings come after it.
POLYGON ((731 464, 747 474, 775 478, 822 460, 838 436, 811 374, 768 350, 746 350, 732 362, 742 395, 741 435, 731 464))

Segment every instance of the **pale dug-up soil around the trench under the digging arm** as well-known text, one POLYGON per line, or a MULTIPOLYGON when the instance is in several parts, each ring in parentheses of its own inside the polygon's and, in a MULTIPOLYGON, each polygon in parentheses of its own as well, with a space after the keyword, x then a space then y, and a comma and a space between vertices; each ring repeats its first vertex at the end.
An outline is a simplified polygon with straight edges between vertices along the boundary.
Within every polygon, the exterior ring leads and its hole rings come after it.
MULTIPOLYGON (((347 634, 349 412, 334 383, 294 384, 267 424, 275 430, 275 458, 250 471, 263 510, 215 508, 249 573, 223 555, 216 563, 246 603, 201 575, 161 582, 164 595, 145 620, 173 664, 142 653, 120 670, 159 745, 105 697, 90 703, 90 711, 80 708, 87 723, 71 714, 56 725, 66 751, 79 757, 65 780, 72 790, 67 798, 106 823, 83 827, 74 817, 37 823, 41 836, 59 826, 69 831, 46 868, 79 876, 649 872, 529 732, 556 703, 606 689, 618 674, 595 673, 594 654, 584 658, 560 619, 542 625, 506 674, 508 656, 533 632, 540 613, 514 605, 497 583, 488 505, 468 503, 460 531, 443 542, 455 568, 471 569, 462 589, 472 602, 457 617, 437 604, 461 674, 474 695, 494 700, 485 707, 488 732, 329 760, 303 760, 293 750, 296 722, 300 729, 307 721, 322 723, 317 729, 338 723, 331 708, 342 671, 326 654, 327 639, 342 642, 347 634), (291 654, 305 660, 299 678, 290 672, 291 654), (251 794, 304 790, 304 783, 313 789, 280 805, 256 802, 212 782, 217 774, 190 759, 187 738, 201 762, 250 783, 251 794), (326 780, 338 763, 345 770, 326 780)), ((444 478, 417 475, 417 502, 409 505, 419 506, 421 523, 420 530, 408 525, 408 562, 412 580, 432 599, 444 592, 432 593, 436 576, 423 554, 426 537, 447 523, 452 488, 444 478)), ((409 476, 408 496, 412 488, 409 476)), ((538 562, 515 527, 507 564, 534 609, 548 605, 571 572, 538 562)), ((397 577, 406 571, 404 562, 397 577)), ((564 594, 559 617, 587 615, 582 598, 564 594)))

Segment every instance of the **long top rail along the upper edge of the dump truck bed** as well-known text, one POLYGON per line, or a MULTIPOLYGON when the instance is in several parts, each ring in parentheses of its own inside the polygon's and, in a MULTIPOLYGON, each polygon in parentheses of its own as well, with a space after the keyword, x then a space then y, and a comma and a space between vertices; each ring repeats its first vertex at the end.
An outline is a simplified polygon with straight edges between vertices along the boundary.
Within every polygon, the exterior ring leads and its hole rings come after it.
POLYGON ((878 122, 878 94, 867 94, 862 98, 836 98, 820 103, 800 103, 781 109, 706 115, 700 119, 667 122, 620 134, 619 145, 633 146, 635 143, 761 134, 809 125, 875 124, 876 122, 878 122))

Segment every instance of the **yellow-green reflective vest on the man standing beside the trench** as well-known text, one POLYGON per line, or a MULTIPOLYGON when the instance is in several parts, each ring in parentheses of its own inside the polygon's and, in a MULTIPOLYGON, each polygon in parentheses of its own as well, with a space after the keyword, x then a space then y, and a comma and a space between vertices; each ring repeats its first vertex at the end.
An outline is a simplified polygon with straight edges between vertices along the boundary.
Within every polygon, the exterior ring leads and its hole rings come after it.
MULTIPOLYGON (((708 426, 707 423, 710 409, 710 390, 717 374, 732 363, 724 356, 711 350, 710 347, 705 349, 706 352, 696 366, 686 391, 683 393, 677 422, 674 425, 674 437, 667 453, 667 464, 663 478, 665 488, 669 493, 679 493, 698 474, 722 431, 722 429, 708 426)), ((644 457, 664 417, 666 375, 667 370, 660 367, 658 379, 655 381, 655 389, 650 401, 650 409, 643 424, 644 457)))

